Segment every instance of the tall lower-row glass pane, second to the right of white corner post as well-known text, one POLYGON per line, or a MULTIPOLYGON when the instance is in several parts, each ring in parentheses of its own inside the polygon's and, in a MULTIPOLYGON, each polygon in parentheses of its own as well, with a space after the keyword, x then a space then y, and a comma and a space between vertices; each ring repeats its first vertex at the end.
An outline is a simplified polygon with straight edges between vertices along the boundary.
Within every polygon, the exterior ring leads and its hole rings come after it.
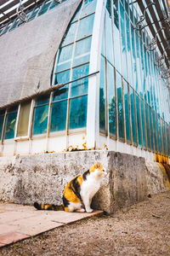
POLYGON ((115 79, 114 68, 107 61, 107 90, 109 105, 109 130, 113 137, 116 137, 116 96, 115 96, 115 79))

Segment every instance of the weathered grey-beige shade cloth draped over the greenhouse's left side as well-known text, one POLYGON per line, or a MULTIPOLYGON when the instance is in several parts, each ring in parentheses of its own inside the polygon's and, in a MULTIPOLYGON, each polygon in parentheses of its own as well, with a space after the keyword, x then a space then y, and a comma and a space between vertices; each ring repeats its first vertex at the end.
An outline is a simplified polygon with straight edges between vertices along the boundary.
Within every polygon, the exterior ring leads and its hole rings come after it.
POLYGON ((0 107, 49 88, 57 49, 79 3, 68 0, 0 38, 0 107))

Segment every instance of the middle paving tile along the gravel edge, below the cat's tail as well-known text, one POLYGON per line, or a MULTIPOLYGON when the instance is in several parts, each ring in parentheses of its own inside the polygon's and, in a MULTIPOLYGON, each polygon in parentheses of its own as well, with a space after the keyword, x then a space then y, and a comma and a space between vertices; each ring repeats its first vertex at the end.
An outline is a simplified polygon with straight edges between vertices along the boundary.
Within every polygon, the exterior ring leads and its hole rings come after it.
POLYGON ((62 225, 64 224, 48 221, 48 222, 43 222, 42 224, 37 224, 32 226, 20 225, 17 231, 27 236, 36 236, 38 234, 41 234, 42 232, 53 230, 54 228, 60 227, 62 225))

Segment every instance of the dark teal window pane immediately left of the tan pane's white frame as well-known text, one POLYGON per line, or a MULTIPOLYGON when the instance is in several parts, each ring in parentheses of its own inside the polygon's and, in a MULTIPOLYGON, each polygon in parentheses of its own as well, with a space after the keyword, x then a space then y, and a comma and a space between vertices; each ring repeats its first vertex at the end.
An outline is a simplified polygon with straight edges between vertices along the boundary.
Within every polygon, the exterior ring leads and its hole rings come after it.
POLYGON ((6 125, 5 125, 5 133, 4 133, 5 140, 14 138, 17 113, 18 113, 18 107, 8 109, 6 125))

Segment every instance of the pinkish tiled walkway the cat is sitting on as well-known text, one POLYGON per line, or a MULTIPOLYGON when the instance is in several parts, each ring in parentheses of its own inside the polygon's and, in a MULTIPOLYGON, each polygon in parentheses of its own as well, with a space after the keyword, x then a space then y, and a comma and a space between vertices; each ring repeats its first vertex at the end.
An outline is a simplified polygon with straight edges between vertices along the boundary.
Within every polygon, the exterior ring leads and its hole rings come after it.
POLYGON ((0 247, 101 213, 37 211, 30 206, 0 202, 0 247))

